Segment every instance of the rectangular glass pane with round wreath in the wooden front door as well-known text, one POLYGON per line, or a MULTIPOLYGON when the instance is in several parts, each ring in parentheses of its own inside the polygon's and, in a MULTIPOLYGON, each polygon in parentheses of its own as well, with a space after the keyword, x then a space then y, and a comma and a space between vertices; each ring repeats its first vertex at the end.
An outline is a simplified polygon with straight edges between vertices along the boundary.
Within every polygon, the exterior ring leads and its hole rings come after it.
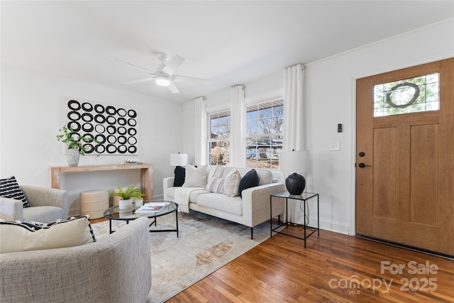
POLYGON ((438 111, 440 109, 440 74, 374 86, 374 116, 438 111))

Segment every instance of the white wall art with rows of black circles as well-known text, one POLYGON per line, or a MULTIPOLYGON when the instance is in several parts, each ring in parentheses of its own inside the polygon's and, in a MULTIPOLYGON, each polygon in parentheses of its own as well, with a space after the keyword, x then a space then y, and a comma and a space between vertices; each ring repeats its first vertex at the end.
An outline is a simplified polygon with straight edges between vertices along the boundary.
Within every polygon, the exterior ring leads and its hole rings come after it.
POLYGON ((99 143, 86 143, 87 155, 138 155, 138 111, 127 106, 65 99, 68 128, 99 143))

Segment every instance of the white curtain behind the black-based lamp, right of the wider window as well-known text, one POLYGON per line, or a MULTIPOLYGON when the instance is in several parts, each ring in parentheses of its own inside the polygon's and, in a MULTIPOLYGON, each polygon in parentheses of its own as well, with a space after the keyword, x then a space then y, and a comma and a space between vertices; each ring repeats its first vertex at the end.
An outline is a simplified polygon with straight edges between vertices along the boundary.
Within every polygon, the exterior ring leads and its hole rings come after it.
MULTIPOLYGON (((305 150, 304 144, 304 67, 284 68, 284 151, 305 150)), ((285 172, 284 178, 292 172, 285 172)), ((304 213, 298 200, 289 200, 289 220, 304 224, 304 213)), ((303 204, 304 205, 304 204, 303 204)))

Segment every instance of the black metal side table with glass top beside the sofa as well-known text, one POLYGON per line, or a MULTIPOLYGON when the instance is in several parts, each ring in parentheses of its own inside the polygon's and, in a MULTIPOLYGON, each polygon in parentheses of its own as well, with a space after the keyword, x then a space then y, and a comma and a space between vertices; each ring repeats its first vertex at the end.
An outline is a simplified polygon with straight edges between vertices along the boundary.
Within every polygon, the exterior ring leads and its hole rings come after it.
POLYGON ((277 192, 276 194, 271 194, 270 195, 270 214, 272 214, 272 199, 273 197, 277 198, 282 198, 285 199, 285 222, 283 224, 280 223, 280 216, 279 216, 279 221, 278 221, 278 226, 273 228, 272 227, 272 216, 270 218, 270 237, 272 237, 272 232, 274 231, 275 233, 282 233, 285 236, 291 236, 293 238, 299 238, 301 240, 304 240, 304 248, 306 248, 306 239, 309 238, 313 233, 317 232, 317 236, 320 236, 320 216, 319 216, 319 194, 315 194, 313 192, 303 192, 302 194, 299 195, 294 195, 294 194, 289 194, 289 192, 284 191, 284 192, 277 192), (317 197, 317 227, 312 227, 309 225, 306 225, 306 202, 309 201, 309 199, 312 199, 314 197, 317 197), (289 233, 284 233, 283 231, 285 228, 289 226, 289 224, 292 224, 292 222, 289 222, 288 219, 288 209, 289 209, 289 199, 294 199, 294 200, 300 200, 304 202, 304 238, 298 237, 298 236, 293 236, 290 235, 289 233), (278 228, 285 226, 285 228, 282 231, 277 231, 278 228), (311 228, 310 233, 306 233, 306 229, 311 228))

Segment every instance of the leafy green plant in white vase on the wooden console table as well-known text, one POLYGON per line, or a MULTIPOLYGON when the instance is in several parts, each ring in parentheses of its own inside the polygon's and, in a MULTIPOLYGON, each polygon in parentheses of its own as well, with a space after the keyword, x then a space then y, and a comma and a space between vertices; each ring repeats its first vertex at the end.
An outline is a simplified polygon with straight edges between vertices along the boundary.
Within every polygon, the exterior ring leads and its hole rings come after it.
POLYGON ((84 143, 90 143, 95 141, 93 138, 87 138, 84 136, 80 136, 78 133, 75 133, 72 127, 67 128, 67 126, 63 126, 58 131, 60 131, 60 135, 57 135, 57 140, 65 143, 67 146, 66 150, 66 159, 68 165, 70 166, 77 166, 79 164, 79 156, 85 155, 86 148, 84 147, 84 143))

